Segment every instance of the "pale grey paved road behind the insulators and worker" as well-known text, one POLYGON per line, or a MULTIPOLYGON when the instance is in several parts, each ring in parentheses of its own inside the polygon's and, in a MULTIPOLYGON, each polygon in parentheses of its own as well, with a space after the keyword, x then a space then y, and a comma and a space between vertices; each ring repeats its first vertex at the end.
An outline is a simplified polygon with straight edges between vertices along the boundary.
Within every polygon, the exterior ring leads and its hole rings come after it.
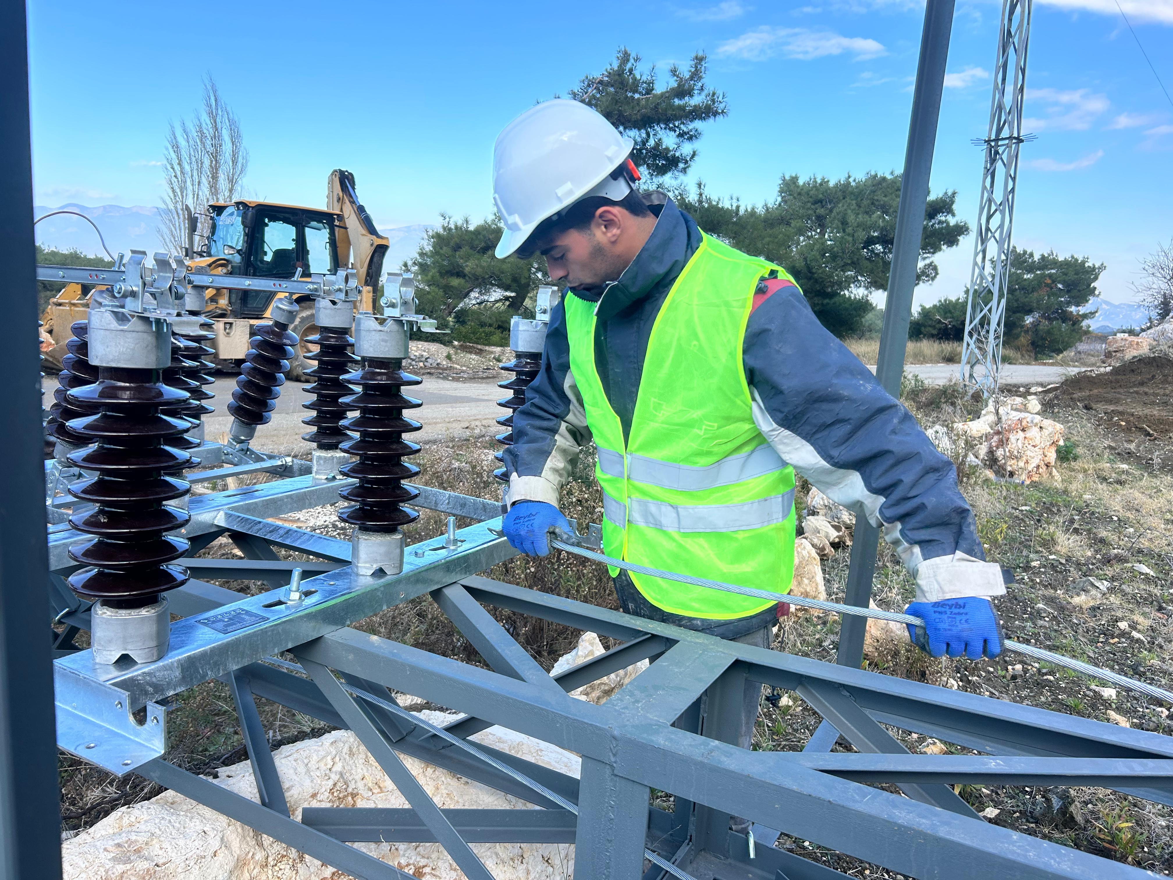
MULTIPOLYGON (((908 367, 927 383, 944 385, 957 377, 957 366, 952 364, 928 364, 908 367)), ((1015 366, 1006 365, 1002 371, 1002 381, 1008 385, 1050 385, 1062 381, 1078 370, 1052 366, 1015 366)), ((56 379, 46 378, 46 400, 52 400, 56 379)), ((228 401, 232 399, 236 377, 219 375, 210 391, 216 394, 211 406, 216 412, 204 421, 206 436, 216 440, 226 432, 232 419, 228 415, 228 401)), ((299 448, 301 434, 308 428, 301 419, 310 413, 301 404, 311 399, 305 392, 307 385, 289 383, 277 401, 273 420, 257 431, 257 446, 271 452, 292 452, 299 448)), ((461 438, 484 431, 497 429, 495 419, 504 413, 495 402, 506 397, 504 392, 493 381, 449 381, 436 377, 425 377, 423 384, 409 391, 413 397, 423 401, 423 406, 411 413, 423 424, 415 440, 436 440, 443 436, 461 438)))

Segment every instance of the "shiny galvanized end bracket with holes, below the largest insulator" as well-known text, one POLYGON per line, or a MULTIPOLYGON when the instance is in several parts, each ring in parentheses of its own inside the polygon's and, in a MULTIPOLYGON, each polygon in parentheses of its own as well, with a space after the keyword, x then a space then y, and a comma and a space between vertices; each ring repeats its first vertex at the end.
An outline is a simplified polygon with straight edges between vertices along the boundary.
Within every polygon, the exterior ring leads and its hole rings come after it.
POLYGON ((53 666, 53 691, 57 746, 70 754, 115 776, 163 754, 167 713, 157 703, 147 703, 144 723, 138 724, 124 690, 59 664, 53 666))

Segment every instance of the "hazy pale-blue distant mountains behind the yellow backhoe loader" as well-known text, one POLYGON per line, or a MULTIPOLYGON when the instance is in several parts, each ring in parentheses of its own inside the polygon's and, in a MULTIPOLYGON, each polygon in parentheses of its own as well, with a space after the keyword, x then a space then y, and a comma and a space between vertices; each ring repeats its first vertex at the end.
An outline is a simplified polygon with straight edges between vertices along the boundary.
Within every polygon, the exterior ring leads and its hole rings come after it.
MULTIPOLYGON (((41 217, 50 211, 77 211, 91 218, 106 238, 110 253, 118 251, 129 253, 130 249, 144 250, 148 253, 168 250, 158 236, 160 210, 147 205, 124 208, 117 204, 103 204, 90 208, 70 202, 57 208, 38 205, 34 216, 41 217)), ((398 270, 405 259, 415 256, 425 233, 434 226, 429 223, 414 223, 409 226, 380 228, 380 232, 391 239, 391 248, 384 259, 385 270, 398 270)), ((94 228, 81 217, 63 214, 48 217, 36 224, 36 243, 42 248, 57 250, 77 249, 82 253, 104 256, 102 244, 94 228)))

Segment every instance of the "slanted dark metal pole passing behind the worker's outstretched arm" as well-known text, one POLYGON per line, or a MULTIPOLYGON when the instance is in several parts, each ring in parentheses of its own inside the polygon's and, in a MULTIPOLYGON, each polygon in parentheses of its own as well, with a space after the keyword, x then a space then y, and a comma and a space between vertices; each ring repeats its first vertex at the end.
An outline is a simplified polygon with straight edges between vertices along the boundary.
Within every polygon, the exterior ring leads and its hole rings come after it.
MULTIPOLYGON (((913 116, 908 124, 904 174, 900 184, 900 209, 896 212, 896 238, 891 249, 888 298, 884 302, 883 332, 880 336, 880 359, 876 365, 876 378, 894 398, 900 397, 900 379, 904 372, 908 323, 913 317, 913 289, 916 286, 916 268, 921 257, 921 235, 924 231, 924 210, 929 199, 929 175, 933 171, 933 148, 937 140, 937 117, 941 114, 952 13, 954 0, 929 0, 924 8, 921 60, 916 66, 916 86, 913 89, 913 116)), ((868 607, 879 546, 879 530, 860 517, 855 526, 852 567, 847 575, 848 604, 868 607)), ((863 659, 866 625, 867 621, 862 617, 843 620, 838 657, 842 665, 859 666, 863 659)))

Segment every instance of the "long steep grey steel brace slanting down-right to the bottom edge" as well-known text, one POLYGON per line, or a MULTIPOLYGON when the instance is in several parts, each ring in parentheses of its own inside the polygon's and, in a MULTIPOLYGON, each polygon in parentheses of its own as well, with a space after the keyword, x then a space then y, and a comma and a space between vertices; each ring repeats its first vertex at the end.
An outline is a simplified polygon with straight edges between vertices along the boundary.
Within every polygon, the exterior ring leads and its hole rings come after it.
POLYGON ((355 703, 354 698, 334 678, 330 669, 304 657, 300 651, 294 651, 294 655, 303 669, 313 678, 314 684, 321 689, 326 699, 346 719, 346 724, 354 731, 367 751, 371 752, 371 757, 378 761, 379 766, 391 778, 399 793, 407 799, 407 803, 415 810, 420 820, 435 835, 440 845, 443 846, 448 857, 472 880, 493 880, 493 874, 489 873, 476 853, 469 848, 465 839, 452 826, 452 823, 448 821, 447 817, 445 817, 440 807, 436 806, 435 801, 423 790, 419 780, 412 776, 407 765, 395 754, 391 739, 382 730, 382 726, 371 717, 369 708, 355 703))

